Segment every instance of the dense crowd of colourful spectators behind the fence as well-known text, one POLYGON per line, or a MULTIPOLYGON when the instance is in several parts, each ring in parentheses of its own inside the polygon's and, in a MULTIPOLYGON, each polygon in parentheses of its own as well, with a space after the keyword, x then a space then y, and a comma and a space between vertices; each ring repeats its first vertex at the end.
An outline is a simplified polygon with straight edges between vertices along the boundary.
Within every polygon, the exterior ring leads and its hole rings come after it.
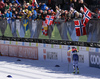
MULTIPOLYGON (((60 9, 54 3, 48 4, 40 2, 34 3, 33 6, 31 1, 24 1, 23 4, 21 4, 18 0, 13 0, 12 2, 9 0, 6 0, 6 2, 0 0, 0 19, 28 18, 30 20, 45 20, 47 15, 54 15, 56 19, 71 20, 73 18, 82 18, 84 5, 88 6, 83 0, 73 0, 70 4, 66 2, 64 5, 65 7, 60 9)), ((95 18, 100 18, 100 11, 98 9, 96 13, 97 16, 95 16, 95 18)))

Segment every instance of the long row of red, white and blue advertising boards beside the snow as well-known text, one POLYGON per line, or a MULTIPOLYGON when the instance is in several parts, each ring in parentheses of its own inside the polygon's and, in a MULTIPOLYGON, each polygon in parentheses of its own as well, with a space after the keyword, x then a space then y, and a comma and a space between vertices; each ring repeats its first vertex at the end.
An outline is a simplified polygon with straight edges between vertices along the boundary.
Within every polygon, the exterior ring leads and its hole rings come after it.
MULTIPOLYGON (((29 43, 16 41, 0 41, 0 53, 3 56, 19 57, 33 60, 60 61, 64 63, 72 62, 72 49, 70 45, 56 45, 43 43, 29 43), (10 43, 10 44, 9 44, 10 43)), ((77 46, 74 46, 77 48, 77 46)), ((90 48, 89 48, 90 49, 90 48)), ((91 50, 94 50, 94 48, 91 50)), ((98 50, 95 48, 95 50, 98 50)), ((85 47, 79 46, 79 63, 91 67, 98 67, 100 53, 91 53, 85 47), (92 55, 92 56, 91 56, 92 55)))

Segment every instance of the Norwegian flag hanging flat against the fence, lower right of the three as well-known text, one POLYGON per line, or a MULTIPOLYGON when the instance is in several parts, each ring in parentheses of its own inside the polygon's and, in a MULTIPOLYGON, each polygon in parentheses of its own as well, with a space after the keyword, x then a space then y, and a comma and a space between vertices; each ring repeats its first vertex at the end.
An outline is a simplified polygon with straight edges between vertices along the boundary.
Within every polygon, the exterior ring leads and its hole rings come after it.
POLYGON ((86 27, 83 26, 83 20, 75 20, 76 36, 86 35, 86 27))

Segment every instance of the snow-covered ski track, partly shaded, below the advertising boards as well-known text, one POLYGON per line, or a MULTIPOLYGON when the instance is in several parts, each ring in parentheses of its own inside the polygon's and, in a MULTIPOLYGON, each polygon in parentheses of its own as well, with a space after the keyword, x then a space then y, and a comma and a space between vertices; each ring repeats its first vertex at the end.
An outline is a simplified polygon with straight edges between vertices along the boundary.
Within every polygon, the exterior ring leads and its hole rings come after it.
POLYGON ((100 69, 79 64, 80 74, 72 74, 72 64, 0 57, 0 79, 100 79, 100 69), (60 67, 55 67, 60 65, 60 67), (12 78, 7 76, 11 75, 12 78))

